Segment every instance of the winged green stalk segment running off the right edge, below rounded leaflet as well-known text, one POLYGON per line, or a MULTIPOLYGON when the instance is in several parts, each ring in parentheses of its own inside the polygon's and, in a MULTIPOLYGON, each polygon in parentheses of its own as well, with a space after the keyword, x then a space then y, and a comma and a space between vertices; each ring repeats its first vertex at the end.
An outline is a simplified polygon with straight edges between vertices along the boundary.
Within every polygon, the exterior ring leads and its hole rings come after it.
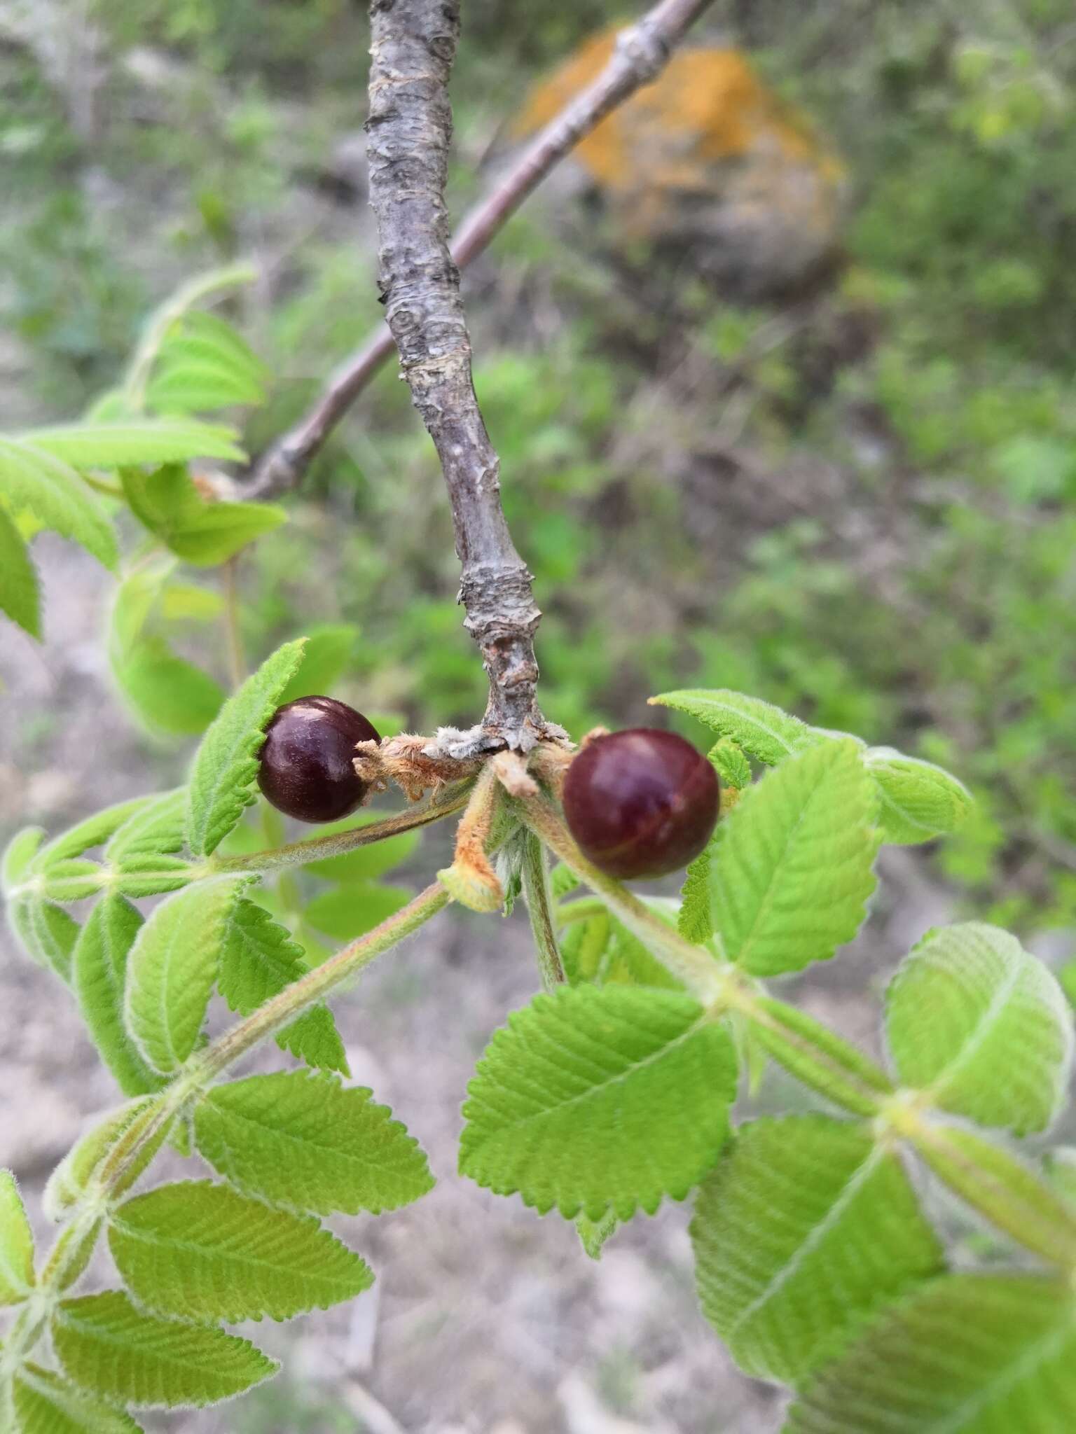
POLYGON ((931 1126, 914 1144, 934 1174, 980 1216, 1050 1263, 1076 1268, 1076 1209, 1036 1166, 958 1126, 931 1126))

